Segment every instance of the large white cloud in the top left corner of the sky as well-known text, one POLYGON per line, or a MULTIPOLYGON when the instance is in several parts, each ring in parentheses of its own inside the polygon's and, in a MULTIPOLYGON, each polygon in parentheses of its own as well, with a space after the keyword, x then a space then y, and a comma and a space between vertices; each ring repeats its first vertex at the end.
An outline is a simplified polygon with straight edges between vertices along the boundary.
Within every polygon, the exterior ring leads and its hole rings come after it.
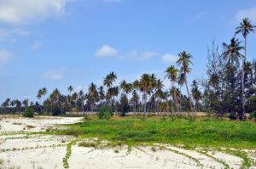
POLYGON ((0 22, 26 24, 63 14, 68 0, 0 0, 0 22))

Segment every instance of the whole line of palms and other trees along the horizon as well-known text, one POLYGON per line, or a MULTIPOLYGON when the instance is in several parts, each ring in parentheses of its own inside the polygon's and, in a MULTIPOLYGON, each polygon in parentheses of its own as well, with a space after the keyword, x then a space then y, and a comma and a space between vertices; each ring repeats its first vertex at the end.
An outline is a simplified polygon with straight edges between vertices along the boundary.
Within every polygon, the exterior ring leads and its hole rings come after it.
POLYGON ((135 82, 121 81, 110 72, 104 77, 102 86, 90 83, 88 91, 76 92, 67 87, 68 94, 57 88, 48 94, 46 87, 38 90, 38 101, 28 99, 22 102, 6 99, 1 107, 3 114, 16 113, 31 107, 38 114, 61 115, 66 112, 97 111, 102 105, 124 115, 125 112, 148 112, 183 115, 196 111, 215 115, 230 115, 230 119, 246 120, 246 113, 256 110, 256 61, 247 61, 247 35, 255 26, 244 19, 236 28, 235 35, 241 34, 244 43, 233 37, 221 48, 214 42, 207 52, 207 77, 188 84, 192 65, 192 55, 186 51, 178 54, 176 65, 165 71, 171 87, 165 89, 163 81, 154 74, 143 74, 135 82), (221 52, 220 52, 221 51, 221 52), (182 93, 184 87, 186 94, 182 93))

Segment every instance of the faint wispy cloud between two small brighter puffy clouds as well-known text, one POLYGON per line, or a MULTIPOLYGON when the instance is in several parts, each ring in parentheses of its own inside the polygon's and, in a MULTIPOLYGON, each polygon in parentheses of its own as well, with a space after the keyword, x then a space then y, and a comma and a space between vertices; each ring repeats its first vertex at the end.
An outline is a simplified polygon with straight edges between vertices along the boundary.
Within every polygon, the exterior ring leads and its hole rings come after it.
POLYGON ((119 56, 119 59, 132 59, 132 60, 138 60, 138 61, 146 61, 154 57, 154 55, 156 55, 154 52, 138 53, 137 49, 133 49, 129 54, 124 54, 122 56, 119 56))

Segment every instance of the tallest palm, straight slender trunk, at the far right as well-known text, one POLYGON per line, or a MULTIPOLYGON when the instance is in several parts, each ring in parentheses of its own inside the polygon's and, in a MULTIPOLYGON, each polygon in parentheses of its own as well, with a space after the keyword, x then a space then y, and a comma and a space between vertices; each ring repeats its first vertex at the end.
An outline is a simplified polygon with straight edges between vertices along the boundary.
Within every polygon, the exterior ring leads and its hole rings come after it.
POLYGON ((244 71, 245 63, 247 61, 247 35, 255 31, 256 25, 252 25, 250 20, 245 18, 240 23, 240 26, 236 27, 236 34, 241 33, 244 38, 244 58, 242 62, 241 72, 241 93, 242 93, 242 114, 245 118, 245 93, 244 93, 244 71))

